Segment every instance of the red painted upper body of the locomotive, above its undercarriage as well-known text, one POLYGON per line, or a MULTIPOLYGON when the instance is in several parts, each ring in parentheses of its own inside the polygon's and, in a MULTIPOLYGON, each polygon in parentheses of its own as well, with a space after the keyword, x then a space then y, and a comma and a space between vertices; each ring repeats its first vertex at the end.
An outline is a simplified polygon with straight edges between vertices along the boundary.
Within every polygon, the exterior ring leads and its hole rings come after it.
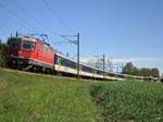
POLYGON ((54 63, 54 50, 41 40, 25 37, 11 37, 9 39, 9 44, 10 58, 18 57, 22 59, 34 59, 38 62, 41 61, 45 63, 50 63, 51 65, 53 65, 54 63), (15 39, 20 39, 20 44, 16 45, 17 47, 14 44, 15 39), (35 45, 34 48, 28 49, 28 45, 25 45, 26 42, 32 42, 33 45, 35 45))

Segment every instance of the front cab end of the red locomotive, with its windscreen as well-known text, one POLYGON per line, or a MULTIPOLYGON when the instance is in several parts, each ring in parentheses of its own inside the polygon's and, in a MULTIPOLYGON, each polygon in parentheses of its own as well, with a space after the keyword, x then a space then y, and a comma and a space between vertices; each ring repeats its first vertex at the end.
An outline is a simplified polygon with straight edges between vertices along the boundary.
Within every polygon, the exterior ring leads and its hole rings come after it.
POLYGON ((28 59, 34 57, 36 42, 27 37, 11 37, 9 45, 9 66, 12 69, 26 69, 29 66, 28 59))

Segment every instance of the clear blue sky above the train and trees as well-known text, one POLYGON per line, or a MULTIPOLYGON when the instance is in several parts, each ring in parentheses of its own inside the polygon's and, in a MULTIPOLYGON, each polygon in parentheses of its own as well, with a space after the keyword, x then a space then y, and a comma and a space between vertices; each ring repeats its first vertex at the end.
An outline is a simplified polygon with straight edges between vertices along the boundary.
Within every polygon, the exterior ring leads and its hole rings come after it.
POLYGON ((0 38, 45 33, 54 48, 75 57, 76 47, 58 34, 79 32, 83 59, 105 53, 163 72, 162 7, 162 0, 1 0, 0 38))

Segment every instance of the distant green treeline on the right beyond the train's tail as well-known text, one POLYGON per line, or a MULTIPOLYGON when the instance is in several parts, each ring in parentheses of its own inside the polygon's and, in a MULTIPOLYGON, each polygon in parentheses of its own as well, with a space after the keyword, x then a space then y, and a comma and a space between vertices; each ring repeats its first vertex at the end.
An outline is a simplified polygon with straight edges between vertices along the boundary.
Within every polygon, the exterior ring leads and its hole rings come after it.
POLYGON ((123 74, 129 74, 129 75, 137 75, 137 76, 160 77, 160 72, 156 68, 153 68, 153 69, 149 69, 149 68, 138 69, 131 62, 126 63, 126 65, 123 68, 122 73, 123 74))

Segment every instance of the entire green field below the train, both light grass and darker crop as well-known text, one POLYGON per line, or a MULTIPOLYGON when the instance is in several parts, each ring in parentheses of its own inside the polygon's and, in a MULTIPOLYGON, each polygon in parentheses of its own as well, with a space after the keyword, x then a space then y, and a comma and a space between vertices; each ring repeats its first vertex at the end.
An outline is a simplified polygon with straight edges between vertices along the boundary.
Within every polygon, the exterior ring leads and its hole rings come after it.
POLYGON ((0 122, 163 122, 163 85, 0 70, 0 122))

